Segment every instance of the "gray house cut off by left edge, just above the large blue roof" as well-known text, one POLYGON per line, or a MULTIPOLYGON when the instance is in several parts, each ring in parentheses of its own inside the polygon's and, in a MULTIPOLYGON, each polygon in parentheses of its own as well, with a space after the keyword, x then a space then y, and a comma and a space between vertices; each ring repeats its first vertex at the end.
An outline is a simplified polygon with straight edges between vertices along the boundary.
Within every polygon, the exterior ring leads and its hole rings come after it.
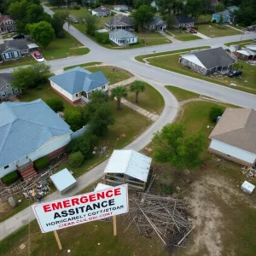
POLYGON ((0 73, 0 102, 21 93, 20 89, 12 88, 10 81, 13 79, 11 73, 0 73))

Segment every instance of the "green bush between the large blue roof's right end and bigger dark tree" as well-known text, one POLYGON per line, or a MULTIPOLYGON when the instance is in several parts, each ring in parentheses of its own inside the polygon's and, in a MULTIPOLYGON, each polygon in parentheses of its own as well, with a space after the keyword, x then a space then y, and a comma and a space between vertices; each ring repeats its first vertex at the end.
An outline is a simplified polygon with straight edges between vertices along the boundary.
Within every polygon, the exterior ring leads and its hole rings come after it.
POLYGON ((64 119, 72 131, 78 131, 84 125, 82 109, 77 108, 66 108, 64 111, 64 119))

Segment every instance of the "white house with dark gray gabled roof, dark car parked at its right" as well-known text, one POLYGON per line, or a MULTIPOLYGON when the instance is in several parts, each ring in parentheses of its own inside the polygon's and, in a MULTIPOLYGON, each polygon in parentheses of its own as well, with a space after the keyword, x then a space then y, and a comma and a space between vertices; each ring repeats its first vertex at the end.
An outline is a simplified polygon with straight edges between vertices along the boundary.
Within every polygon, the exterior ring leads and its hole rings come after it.
POLYGON ((222 47, 201 49, 181 55, 179 63, 196 73, 208 76, 212 73, 226 74, 236 62, 222 47))

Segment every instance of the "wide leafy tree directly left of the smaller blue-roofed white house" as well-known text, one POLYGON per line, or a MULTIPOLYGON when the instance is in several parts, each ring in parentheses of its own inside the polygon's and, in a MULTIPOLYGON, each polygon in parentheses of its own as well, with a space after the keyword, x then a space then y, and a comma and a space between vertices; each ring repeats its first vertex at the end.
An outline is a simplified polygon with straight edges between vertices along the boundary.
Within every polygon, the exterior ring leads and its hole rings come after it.
POLYGON ((14 79, 11 85, 14 88, 26 90, 34 88, 45 82, 49 73, 49 66, 44 63, 36 63, 27 67, 17 67, 12 72, 14 79))

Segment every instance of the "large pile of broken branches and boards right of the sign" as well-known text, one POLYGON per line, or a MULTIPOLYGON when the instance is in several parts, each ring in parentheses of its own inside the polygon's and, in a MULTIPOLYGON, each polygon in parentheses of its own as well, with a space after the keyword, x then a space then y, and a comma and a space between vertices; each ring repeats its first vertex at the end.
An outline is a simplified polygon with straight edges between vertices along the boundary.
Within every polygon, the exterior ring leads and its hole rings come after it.
POLYGON ((151 238, 156 234, 172 253, 183 247, 191 230, 186 202, 172 197, 137 193, 130 195, 129 212, 124 224, 135 224, 140 235, 151 238))

